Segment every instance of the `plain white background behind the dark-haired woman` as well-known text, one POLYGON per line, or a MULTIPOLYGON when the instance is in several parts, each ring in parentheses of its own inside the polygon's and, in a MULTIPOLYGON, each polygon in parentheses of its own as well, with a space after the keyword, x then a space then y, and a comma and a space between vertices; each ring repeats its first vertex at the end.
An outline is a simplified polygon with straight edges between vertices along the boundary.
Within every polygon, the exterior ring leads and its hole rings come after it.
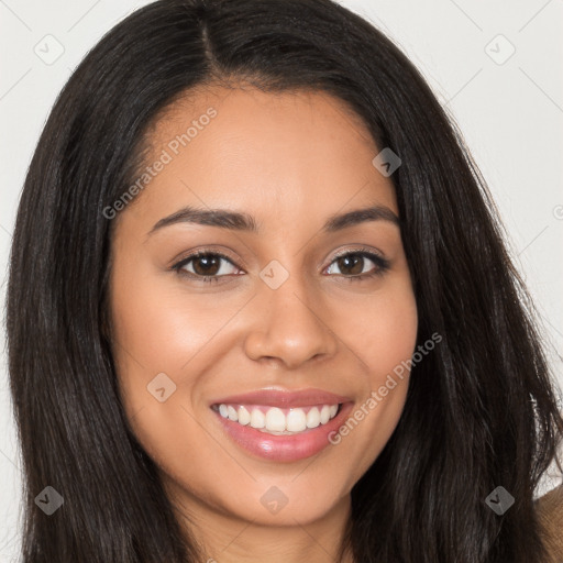
MULTIPOLYGON (((19 194, 55 97, 102 34, 146 3, 0 0, 2 305, 19 194), (36 51, 44 57, 47 52, 55 55, 57 43, 64 53, 52 64, 36 55, 36 51)), ((536 298, 552 366, 563 386, 556 354, 563 343, 563 0, 341 3, 366 16, 406 52, 460 124, 498 205, 517 266, 536 298), (515 53, 503 62, 511 48, 515 53)), ((1 562, 12 561, 20 540, 21 473, 5 365, 2 350, 1 562)))

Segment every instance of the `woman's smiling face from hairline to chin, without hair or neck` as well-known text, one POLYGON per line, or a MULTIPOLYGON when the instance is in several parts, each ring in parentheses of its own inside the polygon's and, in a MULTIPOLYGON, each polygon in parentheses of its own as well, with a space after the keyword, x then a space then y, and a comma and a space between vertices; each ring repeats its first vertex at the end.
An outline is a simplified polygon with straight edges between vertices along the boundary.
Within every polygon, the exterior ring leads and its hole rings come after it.
POLYGON ((150 141, 112 241, 131 428, 196 520, 327 517, 394 431, 415 350, 383 147, 327 93, 221 88, 150 141))

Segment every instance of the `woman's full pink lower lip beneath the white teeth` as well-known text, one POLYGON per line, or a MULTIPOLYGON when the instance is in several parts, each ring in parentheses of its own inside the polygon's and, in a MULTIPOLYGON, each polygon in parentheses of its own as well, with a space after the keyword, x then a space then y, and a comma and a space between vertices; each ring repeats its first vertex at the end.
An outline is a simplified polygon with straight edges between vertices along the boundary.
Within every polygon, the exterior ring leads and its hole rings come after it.
POLYGON ((339 413, 325 424, 294 435, 273 435, 251 426, 242 426, 216 412, 227 433, 247 452, 275 462, 295 462, 316 455, 328 445, 329 434, 336 432, 352 410, 352 402, 342 405, 339 413))

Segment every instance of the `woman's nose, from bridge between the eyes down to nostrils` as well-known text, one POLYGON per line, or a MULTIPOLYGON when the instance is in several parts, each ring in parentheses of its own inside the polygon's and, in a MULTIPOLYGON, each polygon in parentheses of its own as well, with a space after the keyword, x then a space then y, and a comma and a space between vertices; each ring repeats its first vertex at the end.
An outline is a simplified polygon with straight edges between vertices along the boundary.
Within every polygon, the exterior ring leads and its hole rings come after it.
POLYGON ((247 354, 278 357, 299 365, 316 355, 332 354, 335 339, 319 310, 314 284, 291 262, 292 271, 274 260, 260 273, 260 309, 254 331, 246 340, 247 354))

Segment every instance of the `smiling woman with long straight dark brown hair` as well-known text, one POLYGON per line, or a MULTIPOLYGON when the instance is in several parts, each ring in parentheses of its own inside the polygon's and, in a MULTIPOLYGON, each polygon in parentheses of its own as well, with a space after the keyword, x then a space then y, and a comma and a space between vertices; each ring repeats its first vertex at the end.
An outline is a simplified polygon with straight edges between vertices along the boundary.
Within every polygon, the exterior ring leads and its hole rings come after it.
POLYGON ((329 0, 108 33, 16 219, 24 561, 549 561, 563 420, 460 139, 329 0))

